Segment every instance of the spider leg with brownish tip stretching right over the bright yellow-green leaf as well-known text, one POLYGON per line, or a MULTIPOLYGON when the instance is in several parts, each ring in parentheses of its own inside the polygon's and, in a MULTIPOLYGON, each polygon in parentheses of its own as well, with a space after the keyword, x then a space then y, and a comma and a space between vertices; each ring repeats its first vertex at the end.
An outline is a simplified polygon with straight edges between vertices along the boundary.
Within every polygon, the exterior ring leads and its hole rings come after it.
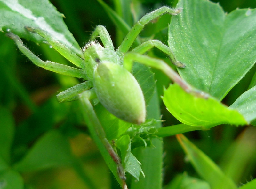
POLYGON ((161 70, 164 74, 166 74, 173 82, 179 84, 184 91, 188 93, 192 93, 197 97, 208 98, 208 94, 200 91, 198 89, 193 88, 189 85, 185 80, 183 80, 180 75, 175 72, 167 63, 160 59, 152 58, 148 55, 141 55, 135 52, 128 52, 124 55, 124 63, 123 66, 128 71, 132 70, 133 62, 139 62, 151 68, 156 68, 161 70))

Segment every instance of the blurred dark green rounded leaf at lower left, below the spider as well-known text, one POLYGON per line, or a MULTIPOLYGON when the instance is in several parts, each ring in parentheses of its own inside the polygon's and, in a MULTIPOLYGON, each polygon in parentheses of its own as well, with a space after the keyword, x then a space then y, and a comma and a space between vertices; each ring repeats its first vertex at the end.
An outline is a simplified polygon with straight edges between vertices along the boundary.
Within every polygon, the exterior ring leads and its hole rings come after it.
POLYGON ((52 130, 41 137, 14 169, 21 172, 38 171, 52 167, 67 166, 73 156, 66 137, 52 130))

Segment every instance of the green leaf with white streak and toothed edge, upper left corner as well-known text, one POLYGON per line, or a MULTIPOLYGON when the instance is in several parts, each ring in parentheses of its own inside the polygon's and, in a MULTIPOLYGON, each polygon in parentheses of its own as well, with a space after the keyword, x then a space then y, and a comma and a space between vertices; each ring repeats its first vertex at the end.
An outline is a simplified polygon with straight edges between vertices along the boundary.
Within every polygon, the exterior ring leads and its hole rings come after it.
POLYGON ((21 38, 40 43, 45 40, 24 28, 25 26, 38 27, 83 56, 78 43, 63 22, 63 18, 65 16, 58 12, 48 0, 0 0, 1 31, 10 31, 21 38))

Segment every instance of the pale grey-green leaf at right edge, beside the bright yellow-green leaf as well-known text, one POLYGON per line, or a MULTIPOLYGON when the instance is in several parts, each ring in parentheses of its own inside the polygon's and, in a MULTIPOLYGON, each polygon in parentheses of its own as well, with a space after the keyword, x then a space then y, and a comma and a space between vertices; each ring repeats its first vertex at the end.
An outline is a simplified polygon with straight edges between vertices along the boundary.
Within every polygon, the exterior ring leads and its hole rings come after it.
POLYGON ((236 109, 240 112, 247 122, 256 119, 256 86, 244 92, 230 106, 231 109, 236 109))

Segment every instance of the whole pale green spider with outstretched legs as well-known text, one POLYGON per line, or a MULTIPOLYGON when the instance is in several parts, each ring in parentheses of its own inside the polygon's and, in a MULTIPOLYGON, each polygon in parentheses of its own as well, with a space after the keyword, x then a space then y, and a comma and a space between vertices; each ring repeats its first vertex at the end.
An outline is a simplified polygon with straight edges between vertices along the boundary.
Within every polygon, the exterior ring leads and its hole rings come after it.
POLYGON ((110 113, 124 121, 134 124, 143 123, 146 117, 144 96, 137 80, 130 73, 132 64, 135 61, 149 67, 160 69, 174 82, 180 84, 185 91, 202 96, 200 91, 196 91, 183 81, 165 62, 149 57, 148 55, 143 55, 152 47, 156 47, 169 55, 175 65, 178 67, 185 67, 181 62, 178 62, 175 59, 172 50, 162 42, 158 40, 148 40, 128 52, 144 25, 164 13, 177 15, 181 11, 182 9, 161 7, 144 15, 135 23, 135 25, 133 25, 132 29, 116 50, 114 49, 112 40, 106 28, 102 25, 98 25, 92 33, 90 42, 82 48, 83 53, 81 52, 80 55, 72 52, 71 49, 55 40, 47 32, 39 28, 26 27, 28 31, 41 35, 55 50, 78 68, 51 61, 42 61, 23 45, 17 35, 7 33, 7 35, 16 42, 20 51, 37 66, 63 75, 84 79, 85 82, 58 94, 57 99, 59 102, 76 99, 82 101, 85 110, 87 110, 90 116, 90 122, 97 130, 98 137, 116 163, 118 176, 123 181, 123 188, 127 188, 125 184, 126 178, 124 168, 119 156, 106 138, 106 134, 93 110, 91 100, 98 98, 100 103, 110 113), (99 36, 104 47, 95 40, 97 36, 99 36))

